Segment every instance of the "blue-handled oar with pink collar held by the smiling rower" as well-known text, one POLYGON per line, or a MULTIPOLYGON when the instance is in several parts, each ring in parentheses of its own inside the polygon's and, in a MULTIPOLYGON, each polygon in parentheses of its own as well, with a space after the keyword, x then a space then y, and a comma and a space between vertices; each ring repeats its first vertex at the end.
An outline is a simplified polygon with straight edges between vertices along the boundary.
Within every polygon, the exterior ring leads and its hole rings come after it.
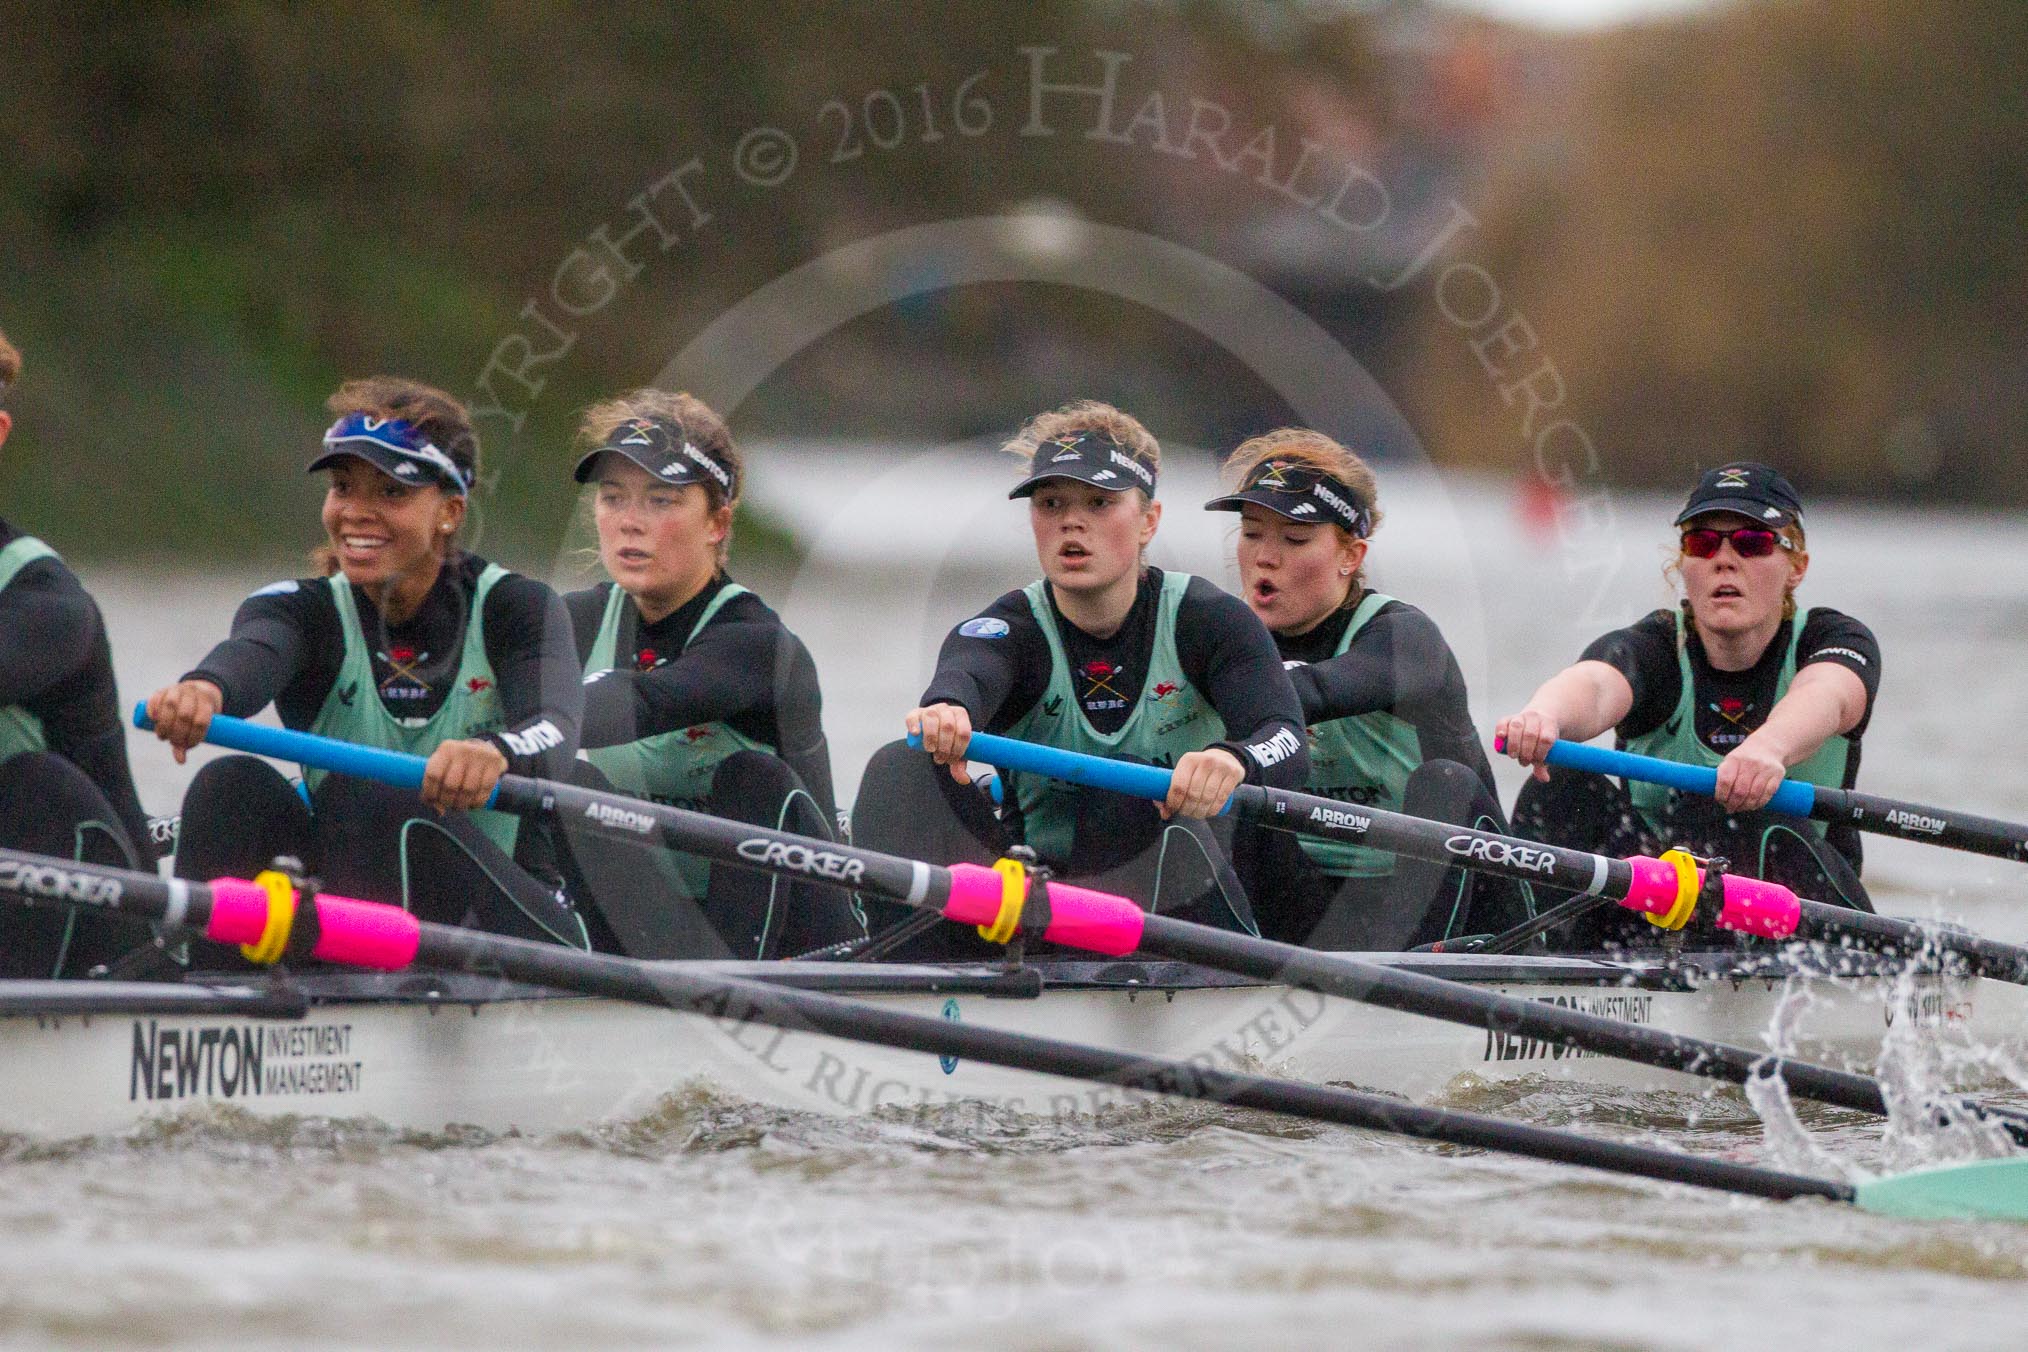
MULTIPOLYGON (((426 764, 422 756, 361 748, 225 716, 211 720, 207 740, 341 774, 381 778, 408 788, 422 782, 422 766, 426 764)), ((722 821, 614 793, 511 774, 501 776, 489 807, 554 813, 574 821, 580 829, 617 839, 653 839, 667 849, 681 849, 734 868, 793 874, 858 888, 907 906, 939 910, 947 920, 959 924, 975 924, 994 943, 1008 943, 1014 934, 1024 934, 1107 957, 1146 949, 1263 981, 1310 985, 1324 993, 1405 1013, 1489 1028, 1517 1038, 1541 1038, 1687 1074, 1732 1082, 1774 1074, 1803 1099, 1835 1103, 1862 1113, 1884 1115, 1888 1111, 1880 1084, 1860 1074, 1789 1062, 1722 1042, 1683 1038, 1659 1028, 1618 1024, 1580 1009, 1515 999, 1414 971, 1213 930, 1172 916, 1144 914, 1128 898, 1061 882, 1042 884, 1014 859, 1002 859, 994 868, 975 863, 941 868, 856 845, 722 821)), ((2000 1111, 1957 1107, 1973 1115, 2004 1117, 2000 1111)), ((2024 1133, 2024 1143, 2028 1143, 2028 1133, 2024 1133)))

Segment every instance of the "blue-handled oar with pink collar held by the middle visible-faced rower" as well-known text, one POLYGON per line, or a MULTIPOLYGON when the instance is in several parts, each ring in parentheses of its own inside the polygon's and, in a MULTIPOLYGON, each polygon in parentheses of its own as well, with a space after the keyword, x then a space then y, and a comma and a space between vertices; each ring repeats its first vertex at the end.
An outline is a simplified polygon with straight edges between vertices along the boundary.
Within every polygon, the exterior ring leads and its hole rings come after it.
MULTIPOLYGON (((1168 770, 1162 766, 1105 760, 990 732, 971 734, 965 758, 1002 770, 1046 774, 1138 799, 1162 799, 1168 793, 1168 770)), ((1318 835, 1387 849, 1411 859, 1456 863, 1521 882, 1604 896, 1671 930, 1689 924, 1706 892, 1706 874, 1697 868, 1697 859, 1679 849, 1661 857, 1612 859, 1584 849, 1543 845, 1265 784, 1241 784, 1233 791, 1227 809, 1278 831, 1318 835)), ((1981 938, 1967 930, 1813 902, 1799 898, 1779 882, 1740 874, 1726 874, 1716 892, 1718 896, 1706 898, 1704 904, 1716 906, 1714 920, 1726 930, 1760 938, 1852 941, 1908 957, 1943 951, 1957 955, 1969 971, 1981 977, 2028 985, 2028 949, 1981 938)))

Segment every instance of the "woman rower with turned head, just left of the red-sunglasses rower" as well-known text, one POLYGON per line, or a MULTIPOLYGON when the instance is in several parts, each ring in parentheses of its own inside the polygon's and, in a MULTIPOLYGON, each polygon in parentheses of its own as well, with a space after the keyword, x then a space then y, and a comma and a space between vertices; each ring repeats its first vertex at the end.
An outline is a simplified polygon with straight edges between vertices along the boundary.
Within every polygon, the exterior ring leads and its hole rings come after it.
MULTIPOLYGON (((1233 493, 1241 596, 1274 632, 1308 726, 1308 793, 1507 831, 1464 673, 1428 614, 1367 586, 1381 523, 1373 470, 1322 432, 1284 428, 1239 446, 1233 493)), ((1296 837, 1261 841, 1255 888, 1318 949, 1389 951, 1503 930, 1533 916, 1525 886, 1296 837)))

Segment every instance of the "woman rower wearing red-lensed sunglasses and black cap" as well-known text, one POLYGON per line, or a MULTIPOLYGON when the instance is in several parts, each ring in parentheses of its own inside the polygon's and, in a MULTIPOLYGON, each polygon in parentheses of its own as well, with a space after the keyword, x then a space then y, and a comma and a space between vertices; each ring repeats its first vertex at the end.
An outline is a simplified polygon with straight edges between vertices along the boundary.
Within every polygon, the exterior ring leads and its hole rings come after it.
MULTIPOLYGON (((1710 470, 1675 525, 1681 547, 1669 574, 1681 604, 1604 634, 1501 720, 1507 754, 1535 768, 1515 829, 1612 855, 1681 845, 1813 900, 1872 910, 1856 831, 1760 809, 1785 776, 1852 786, 1880 645, 1848 614, 1797 608, 1809 572, 1803 503, 1772 468, 1710 470), (1586 742, 1608 728, 1626 750, 1716 766, 1716 801, 1543 764, 1558 738, 1586 742)), ((1637 941, 1645 930, 1620 912, 1594 912, 1572 943, 1637 941)))

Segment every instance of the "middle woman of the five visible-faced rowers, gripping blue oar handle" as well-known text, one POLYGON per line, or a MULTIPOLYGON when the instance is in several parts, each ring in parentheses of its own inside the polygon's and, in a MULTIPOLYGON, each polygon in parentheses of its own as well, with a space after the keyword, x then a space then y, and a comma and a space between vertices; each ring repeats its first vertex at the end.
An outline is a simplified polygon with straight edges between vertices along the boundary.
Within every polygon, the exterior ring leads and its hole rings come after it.
MULTIPOLYGON (((902 742, 874 756, 854 839, 939 863, 1026 843, 1059 876, 1257 932, 1229 859, 1231 819, 1217 831, 1205 819, 1241 782, 1302 784, 1302 713, 1274 641, 1239 598, 1146 564, 1160 446, 1140 422, 1071 403, 1030 420, 1008 450, 1028 466, 1010 497, 1028 499, 1042 578, 945 639, 907 716, 931 756, 902 742), (1174 766, 1172 786, 1152 805, 1010 774, 996 817, 967 788, 973 728, 1174 766), (931 758, 949 774, 929 772, 931 758)), ((951 930, 943 949, 975 945, 951 930)))

